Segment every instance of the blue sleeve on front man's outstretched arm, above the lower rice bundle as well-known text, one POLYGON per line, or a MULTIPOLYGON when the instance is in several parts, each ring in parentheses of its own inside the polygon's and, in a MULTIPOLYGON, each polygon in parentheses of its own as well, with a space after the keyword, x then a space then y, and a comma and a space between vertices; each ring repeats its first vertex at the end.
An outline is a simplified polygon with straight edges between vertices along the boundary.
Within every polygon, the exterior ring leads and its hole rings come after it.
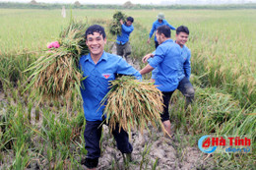
POLYGON ((120 58, 117 64, 117 74, 135 76, 137 80, 142 79, 142 75, 129 65, 123 58, 120 58))

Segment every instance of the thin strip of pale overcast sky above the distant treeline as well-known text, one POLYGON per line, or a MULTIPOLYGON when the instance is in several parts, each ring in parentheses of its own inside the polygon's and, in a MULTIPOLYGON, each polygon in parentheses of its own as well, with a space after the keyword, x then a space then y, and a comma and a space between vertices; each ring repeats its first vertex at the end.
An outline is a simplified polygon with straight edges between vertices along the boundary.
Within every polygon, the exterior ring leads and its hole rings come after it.
MULTIPOLYGON (((35 0, 36 2, 43 2, 43 3, 67 3, 67 4, 74 4, 77 0, 35 0)), ((81 4, 124 4, 128 0, 78 0, 81 4)), ((133 4, 160 4, 161 1, 165 2, 172 2, 175 3, 180 0, 129 0, 133 4)), ((183 0, 186 2, 186 0, 183 0)), ((215 1, 221 0, 197 0, 199 2, 204 3, 214 3, 215 1)), ((237 2, 256 2, 256 0, 224 0, 225 2, 229 3, 237 3, 237 2)), ((24 2, 28 3, 31 0, 0 0, 0 2, 24 2)))

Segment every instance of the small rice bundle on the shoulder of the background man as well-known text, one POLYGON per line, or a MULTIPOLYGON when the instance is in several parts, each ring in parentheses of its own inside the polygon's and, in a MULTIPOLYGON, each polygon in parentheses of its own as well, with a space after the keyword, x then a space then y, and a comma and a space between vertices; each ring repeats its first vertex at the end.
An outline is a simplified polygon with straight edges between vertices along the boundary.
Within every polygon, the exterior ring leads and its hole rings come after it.
POLYGON ((120 24, 120 20, 122 20, 123 22, 126 21, 126 16, 121 13, 120 11, 117 11, 116 13, 114 13, 113 15, 113 20, 109 25, 109 31, 111 34, 116 35, 116 34, 121 34, 121 24, 120 24))

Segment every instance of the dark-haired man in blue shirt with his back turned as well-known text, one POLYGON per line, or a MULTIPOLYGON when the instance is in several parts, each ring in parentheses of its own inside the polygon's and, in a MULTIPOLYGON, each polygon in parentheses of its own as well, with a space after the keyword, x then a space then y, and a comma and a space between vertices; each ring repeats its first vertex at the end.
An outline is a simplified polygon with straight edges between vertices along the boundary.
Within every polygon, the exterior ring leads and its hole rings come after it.
POLYGON ((155 85, 158 85, 157 87, 163 94, 164 109, 160 116, 165 130, 170 135, 168 105, 171 94, 179 83, 178 69, 180 63, 182 63, 181 48, 170 39, 170 28, 168 26, 157 28, 156 35, 160 46, 158 46, 154 58, 140 73, 144 75, 153 71, 156 67, 159 69, 155 85))

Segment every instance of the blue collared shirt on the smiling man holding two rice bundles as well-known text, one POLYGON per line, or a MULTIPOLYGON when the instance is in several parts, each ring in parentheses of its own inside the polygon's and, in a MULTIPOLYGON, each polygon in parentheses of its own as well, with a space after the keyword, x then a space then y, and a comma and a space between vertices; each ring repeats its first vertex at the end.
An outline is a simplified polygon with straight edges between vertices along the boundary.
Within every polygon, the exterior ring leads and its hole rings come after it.
POLYGON ((95 64, 90 54, 80 58, 83 77, 81 88, 85 117, 88 121, 102 120, 104 106, 100 101, 109 91, 109 81, 115 80, 115 74, 131 75, 141 79, 141 74, 117 55, 103 52, 95 64))

